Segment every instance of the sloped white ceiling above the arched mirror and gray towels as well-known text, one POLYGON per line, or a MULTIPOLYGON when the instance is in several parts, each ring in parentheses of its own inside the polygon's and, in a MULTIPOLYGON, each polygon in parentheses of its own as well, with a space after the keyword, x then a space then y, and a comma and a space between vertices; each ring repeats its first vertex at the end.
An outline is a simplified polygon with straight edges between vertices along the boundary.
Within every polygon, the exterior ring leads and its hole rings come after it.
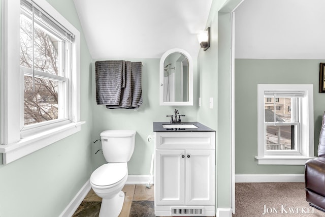
POLYGON ((199 53, 212 0, 74 0, 92 58, 160 58, 199 53))

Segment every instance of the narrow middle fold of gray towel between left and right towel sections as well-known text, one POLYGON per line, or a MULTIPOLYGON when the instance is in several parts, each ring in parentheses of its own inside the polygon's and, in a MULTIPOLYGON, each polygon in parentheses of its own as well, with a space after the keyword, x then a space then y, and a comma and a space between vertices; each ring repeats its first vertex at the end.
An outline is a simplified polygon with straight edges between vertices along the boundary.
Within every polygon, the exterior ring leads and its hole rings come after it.
POLYGON ((125 88, 121 90, 121 98, 118 106, 109 106, 107 105, 107 109, 113 108, 124 108, 131 106, 132 103, 132 91, 131 91, 131 61, 125 61, 125 73, 124 73, 124 83, 125 88))

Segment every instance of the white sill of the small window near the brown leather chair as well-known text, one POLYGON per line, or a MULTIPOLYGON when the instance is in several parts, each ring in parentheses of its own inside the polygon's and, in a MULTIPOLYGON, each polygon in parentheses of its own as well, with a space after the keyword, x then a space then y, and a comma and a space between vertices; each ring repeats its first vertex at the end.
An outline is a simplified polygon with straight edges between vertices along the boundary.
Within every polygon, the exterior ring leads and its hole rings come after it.
POLYGON ((306 161, 315 157, 306 156, 255 156, 258 165, 305 165, 306 161))

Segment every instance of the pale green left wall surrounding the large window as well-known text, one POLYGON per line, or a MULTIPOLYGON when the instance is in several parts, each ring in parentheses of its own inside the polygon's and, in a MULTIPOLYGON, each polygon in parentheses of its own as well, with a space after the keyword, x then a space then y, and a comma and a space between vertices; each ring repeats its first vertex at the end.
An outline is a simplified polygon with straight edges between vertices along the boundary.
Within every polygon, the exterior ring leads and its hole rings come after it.
POLYGON ((0 165, 1 217, 57 217, 89 179, 92 172, 92 59, 73 0, 47 1, 81 34, 80 117, 86 123, 81 126, 81 132, 75 135, 13 163, 0 165))

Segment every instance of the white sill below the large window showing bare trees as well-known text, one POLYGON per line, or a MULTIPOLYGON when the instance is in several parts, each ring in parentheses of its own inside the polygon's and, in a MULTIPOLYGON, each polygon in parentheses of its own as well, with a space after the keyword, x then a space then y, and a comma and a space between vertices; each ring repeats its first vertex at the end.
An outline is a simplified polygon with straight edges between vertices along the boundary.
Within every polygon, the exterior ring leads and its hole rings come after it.
POLYGON ((81 130, 81 125, 84 123, 85 121, 68 123, 64 126, 25 137, 12 144, 0 145, 0 153, 3 153, 3 164, 9 164, 32 152, 77 133, 81 130))

